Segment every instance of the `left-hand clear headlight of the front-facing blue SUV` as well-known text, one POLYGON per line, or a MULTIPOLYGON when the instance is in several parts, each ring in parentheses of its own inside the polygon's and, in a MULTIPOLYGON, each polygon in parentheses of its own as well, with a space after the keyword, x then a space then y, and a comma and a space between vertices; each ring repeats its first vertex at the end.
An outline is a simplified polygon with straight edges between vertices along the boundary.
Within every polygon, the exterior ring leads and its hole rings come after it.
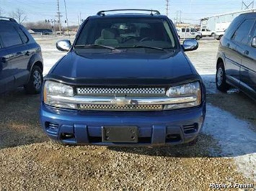
POLYGON ((46 81, 43 88, 43 101, 45 104, 57 108, 77 108, 77 104, 58 101, 58 96, 73 97, 74 88, 63 83, 46 81))

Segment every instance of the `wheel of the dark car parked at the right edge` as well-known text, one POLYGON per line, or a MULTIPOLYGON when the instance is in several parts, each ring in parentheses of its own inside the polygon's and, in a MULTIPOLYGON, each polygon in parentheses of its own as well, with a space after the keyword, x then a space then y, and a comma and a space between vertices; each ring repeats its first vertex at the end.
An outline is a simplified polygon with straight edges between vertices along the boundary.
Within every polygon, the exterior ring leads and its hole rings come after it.
POLYGON ((224 64, 222 62, 219 63, 217 66, 216 87, 218 90, 222 92, 226 92, 230 88, 230 85, 226 83, 226 73, 224 64))

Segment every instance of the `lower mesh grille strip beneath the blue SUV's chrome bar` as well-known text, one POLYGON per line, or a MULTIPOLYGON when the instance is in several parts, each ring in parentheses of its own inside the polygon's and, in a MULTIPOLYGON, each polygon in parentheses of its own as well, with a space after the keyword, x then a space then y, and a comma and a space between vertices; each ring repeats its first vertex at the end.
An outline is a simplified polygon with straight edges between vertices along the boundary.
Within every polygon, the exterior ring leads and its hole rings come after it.
POLYGON ((83 110, 107 110, 107 111, 161 111, 162 105, 95 105, 95 104, 80 104, 80 108, 83 110))

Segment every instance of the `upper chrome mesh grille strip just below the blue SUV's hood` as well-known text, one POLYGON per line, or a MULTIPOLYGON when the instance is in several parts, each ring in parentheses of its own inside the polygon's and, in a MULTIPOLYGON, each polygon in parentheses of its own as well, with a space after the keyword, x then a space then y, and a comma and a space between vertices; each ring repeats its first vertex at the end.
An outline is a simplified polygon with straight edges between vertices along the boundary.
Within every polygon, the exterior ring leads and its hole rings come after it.
POLYGON ((79 95, 84 94, 154 94, 154 95, 164 95, 165 88, 77 88, 77 93, 79 95))

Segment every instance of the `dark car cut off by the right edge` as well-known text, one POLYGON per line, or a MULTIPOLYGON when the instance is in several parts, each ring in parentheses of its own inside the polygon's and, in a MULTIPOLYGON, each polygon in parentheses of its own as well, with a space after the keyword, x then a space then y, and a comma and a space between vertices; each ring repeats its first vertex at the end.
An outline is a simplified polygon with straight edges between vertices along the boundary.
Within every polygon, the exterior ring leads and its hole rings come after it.
POLYGON ((256 101, 256 13, 234 19, 221 38, 216 85, 226 92, 239 88, 256 101))

